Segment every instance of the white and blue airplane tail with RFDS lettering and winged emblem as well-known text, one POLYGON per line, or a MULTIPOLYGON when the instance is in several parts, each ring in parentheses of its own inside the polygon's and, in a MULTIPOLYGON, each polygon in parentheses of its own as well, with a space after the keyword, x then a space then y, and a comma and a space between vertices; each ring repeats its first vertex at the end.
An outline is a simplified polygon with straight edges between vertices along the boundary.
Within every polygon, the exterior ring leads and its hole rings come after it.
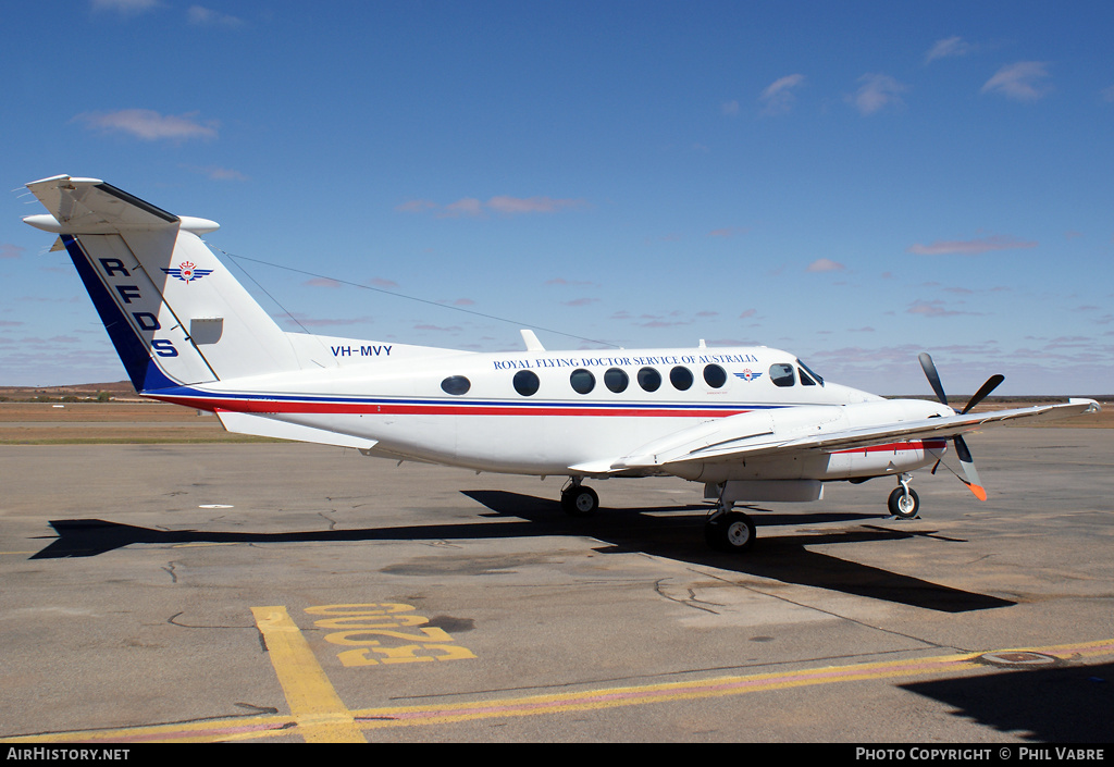
POLYGON ((61 235, 138 391, 299 369, 286 334, 199 234, 96 178, 27 185, 50 211, 28 224, 61 235))

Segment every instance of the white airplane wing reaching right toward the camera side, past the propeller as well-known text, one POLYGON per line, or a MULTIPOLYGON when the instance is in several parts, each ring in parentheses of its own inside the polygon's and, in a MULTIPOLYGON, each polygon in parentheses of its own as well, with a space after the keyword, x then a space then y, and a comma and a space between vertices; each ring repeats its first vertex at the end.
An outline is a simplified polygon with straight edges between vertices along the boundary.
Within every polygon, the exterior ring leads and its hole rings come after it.
MULTIPOLYGON (((853 407, 853 406, 848 406, 853 407)), ((791 408, 809 410, 814 423, 779 428, 775 414, 746 412, 730 416, 670 435, 645 445, 629 455, 610 460, 595 460, 570 466, 585 474, 617 474, 648 470, 682 463, 724 463, 745 460, 758 456, 801 454, 807 452, 834 453, 857 447, 886 445, 895 439, 945 438, 966 434, 989 426, 1027 420, 1030 423, 1069 418, 1100 410, 1093 399, 1071 399, 1057 405, 1042 405, 990 412, 969 412, 955 416, 934 416, 911 420, 876 423, 868 426, 844 426, 830 412, 838 408, 791 408), (827 419, 824 420, 824 417, 827 419)), ((801 421, 804 419, 797 418, 801 421)), ((667 470, 667 469, 666 469, 667 470)))

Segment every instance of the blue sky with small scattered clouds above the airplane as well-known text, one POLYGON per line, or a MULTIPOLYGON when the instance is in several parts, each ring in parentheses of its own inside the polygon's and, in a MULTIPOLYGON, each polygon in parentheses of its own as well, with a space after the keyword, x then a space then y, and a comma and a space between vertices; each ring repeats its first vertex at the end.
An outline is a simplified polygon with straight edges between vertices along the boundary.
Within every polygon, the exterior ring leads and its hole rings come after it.
POLYGON ((1017 0, 4 3, 0 384, 125 378, 20 222, 68 173, 219 222, 290 330, 761 343, 880 394, 928 394, 928 350, 955 394, 1110 394, 1112 29, 1017 0))

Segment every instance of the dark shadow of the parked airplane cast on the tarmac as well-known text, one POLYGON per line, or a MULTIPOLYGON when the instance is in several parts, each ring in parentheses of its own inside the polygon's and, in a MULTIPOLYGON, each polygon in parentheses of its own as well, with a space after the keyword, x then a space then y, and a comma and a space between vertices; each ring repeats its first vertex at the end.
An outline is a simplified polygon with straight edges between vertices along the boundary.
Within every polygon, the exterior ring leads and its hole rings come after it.
MULTIPOLYGON (((97 556, 137 543, 285 543, 358 541, 441 541, 584 535, 603 541, 603 553, 642 552, 655 556, 749 573, 784 583, 828 589, 940 612, 968 612, 1005 608, 1014 602, 922 581, 871 565, 814 551, 815 546, 909 540, 928 536, 956 541, 930 532, 905 532, 871 525, 776 537, 760 537, 746 554, 722 554, 704 544, 707 506, 607 509, 590 517, 570 517, 557 502, 505 491, 465 491, 469 498, 491 509, 485 516, 498 522, 405 525, 360 530, 286 533, 222 533, 195 530, 152 530, 104 520, 56 520, 58 537, 32 560, 97 556), (514 521, 504 521, 511 517, 514 521)), ((761 514, 760 527, 818 522, 878 520, 866 514, 761 514)))

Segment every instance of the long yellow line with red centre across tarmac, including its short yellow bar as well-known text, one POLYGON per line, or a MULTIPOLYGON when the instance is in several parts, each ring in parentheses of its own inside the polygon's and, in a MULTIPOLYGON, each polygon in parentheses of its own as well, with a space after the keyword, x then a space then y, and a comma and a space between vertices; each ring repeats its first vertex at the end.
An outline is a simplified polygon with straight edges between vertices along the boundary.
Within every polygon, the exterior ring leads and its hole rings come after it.
MULTIPOLYGON (((184 742, 228 741, 268 738, 292 732, 304 735, 306 740, 340 740, 359 738, 361 730, 383 727, 414 727, 441 725, 476 719, 537 716, 592 709, 661 703, 677 700, 746 695, 813 685, 831 685, 866 679, 901 679, 926 674, 951 674, 959 671, 981 670, 977 659, 985 652, 965 652, 932 658, 910 658, 856 663, 850 666, 800 669, 798 671, 756 673, 739 677, 720 677, 690 682, 644 685, 639 687, 604 688, 559 695, 527 696, 475 700, 450 705, 407 706, 348 710, 341 703, 324 672, 310 653, 297 627, 286 614, 285 608, 253 608, 256 623, 272 653, 272 662, 291 703, 291 715, 261 717, 229 717, 204 722, 133 727, 117 730, 86 730, 53 732, 50 735, 0 738, 0 742, 184 742), (266 627, 264 629, 264 627, 266 627), (296 639, 294 639, 296 638, 296 639), (274 641, 272 641, 272 639, 274 641), (278 658, 274 653, 290 652, 277 645, 300 645, 291 653, 300 659, 278 658), (309 663, 306 664, 306 658, 309 663), (294 669, 296 663, 310 668, 294 669), (282 668, 280 668, 282 667, 282 668), (287 688, 284 677, 293 677, 287 688), (297 701, 295 706, 295 701, 297 701)), ((1114 639, 1057 644, 1051 647, 1008 648, 986 652, 1042 652, 1062 660, 1114 656, 1114 639)), ((1023 673, 1018 671, 1017 673, 1023 673)))

